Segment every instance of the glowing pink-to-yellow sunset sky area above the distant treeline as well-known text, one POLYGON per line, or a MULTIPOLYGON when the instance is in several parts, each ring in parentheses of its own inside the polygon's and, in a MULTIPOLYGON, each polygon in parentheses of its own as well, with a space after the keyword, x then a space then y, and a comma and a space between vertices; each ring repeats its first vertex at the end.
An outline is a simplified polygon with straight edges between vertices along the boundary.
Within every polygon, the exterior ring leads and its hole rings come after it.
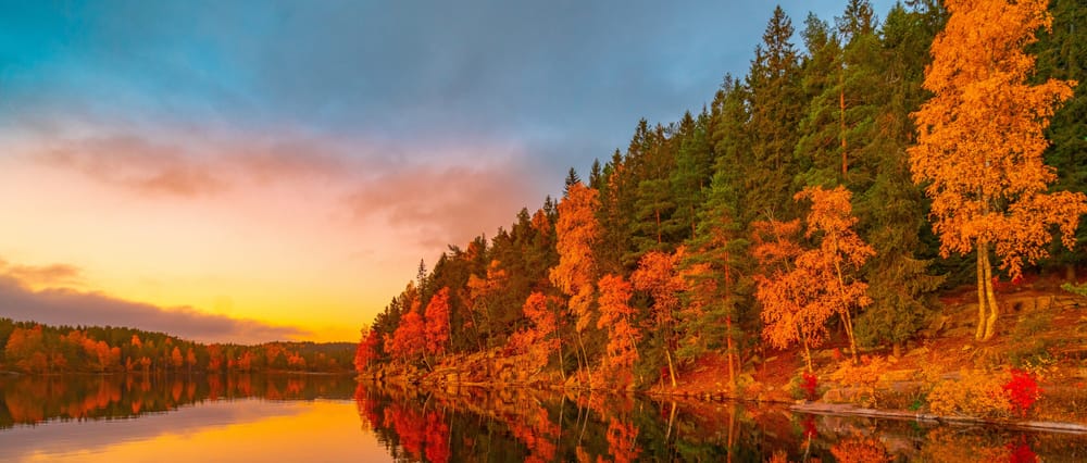
POLYGON ((409 175, 268 145, 183 155, 134 138, 39 143, 0 160, 8 284, 252 324, 182 334, 198 340, 350 340, 441 252, 435 240, 465 240, 517 208, 497 195, 517 191, 508 165, 409 175))

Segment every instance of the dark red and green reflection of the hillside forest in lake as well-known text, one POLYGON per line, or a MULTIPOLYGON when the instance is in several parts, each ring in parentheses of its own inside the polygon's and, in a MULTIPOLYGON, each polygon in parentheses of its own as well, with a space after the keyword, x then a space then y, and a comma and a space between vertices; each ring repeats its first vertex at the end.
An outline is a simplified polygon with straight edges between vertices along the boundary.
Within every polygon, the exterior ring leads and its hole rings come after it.
POLYGON ((363 429, 399 462, 745 462, 775 453, 783 462, 947 461, 966 449, 1001 461, 1035 454, 1082 461, 1087 454, 1083 436, 796 415, 765 404, 373 385, 360 385, 355 401, 363 429))

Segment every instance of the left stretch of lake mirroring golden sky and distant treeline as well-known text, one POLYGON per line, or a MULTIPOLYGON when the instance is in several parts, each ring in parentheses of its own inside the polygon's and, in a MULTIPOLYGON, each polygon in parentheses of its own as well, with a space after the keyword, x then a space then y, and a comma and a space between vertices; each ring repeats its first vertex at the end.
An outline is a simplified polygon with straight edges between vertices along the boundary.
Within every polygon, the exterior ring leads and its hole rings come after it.
POLYGON ((391 461, 337 376, 0 378, 0 461, 391 461))

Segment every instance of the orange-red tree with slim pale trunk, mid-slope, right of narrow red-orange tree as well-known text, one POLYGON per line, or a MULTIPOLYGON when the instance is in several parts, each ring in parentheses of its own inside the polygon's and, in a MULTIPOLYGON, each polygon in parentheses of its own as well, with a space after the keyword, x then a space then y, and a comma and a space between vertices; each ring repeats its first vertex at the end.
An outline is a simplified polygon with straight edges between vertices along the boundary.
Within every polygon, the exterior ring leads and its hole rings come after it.
POLYGON ((630 274, 634 287, 648 292, 653 299, 650 306, 651 330, 662 336, 664 360, 667 361, 672 387, 676 387, 677 379, 673 354, 676 345, 676 311, 680 305, 679 295, 687 288, 687 283, 678 271, 683 255, 683 248, 671 254, 660 251, 648 252, 638 261, 638 268, 630 274))

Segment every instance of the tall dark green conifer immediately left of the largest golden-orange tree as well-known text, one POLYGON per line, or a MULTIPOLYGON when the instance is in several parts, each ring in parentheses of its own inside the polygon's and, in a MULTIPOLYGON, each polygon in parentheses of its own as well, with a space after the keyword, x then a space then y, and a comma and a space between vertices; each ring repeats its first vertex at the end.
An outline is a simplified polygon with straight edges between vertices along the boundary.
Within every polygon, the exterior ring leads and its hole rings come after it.
POLYGON ((913 143, 910 112, 926 97, 921 88, 928 46, 942 27, 944 13, 894 7, 880 35, 879 75, 890 84, 878 87, 877 104, 867 145, 860 147, 872 160, 872 185, 855 198, 859 233, 876 250, 864 267, 874 302, 857 321, 861 345, 889 342, 900 353, 902 342, 926 322, 935 303, 933 291, 944 276, 932 274, 921 240, 926 208, 924 193, 910 178, 905 149, 913 143))

